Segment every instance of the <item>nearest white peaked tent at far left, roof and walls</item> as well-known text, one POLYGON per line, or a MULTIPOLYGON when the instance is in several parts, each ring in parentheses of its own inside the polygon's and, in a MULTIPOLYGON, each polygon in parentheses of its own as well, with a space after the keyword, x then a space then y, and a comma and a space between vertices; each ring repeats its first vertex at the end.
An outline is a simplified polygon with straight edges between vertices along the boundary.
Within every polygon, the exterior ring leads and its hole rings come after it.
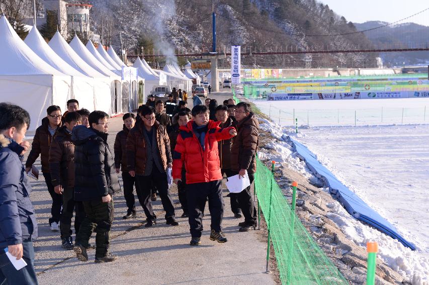
POLYGON ((10 102, 30 113, 30 131, 36 130, 51 105, 64 108, 70 98, 71 77, 35 54, 0 17, 0 102, 10 102))

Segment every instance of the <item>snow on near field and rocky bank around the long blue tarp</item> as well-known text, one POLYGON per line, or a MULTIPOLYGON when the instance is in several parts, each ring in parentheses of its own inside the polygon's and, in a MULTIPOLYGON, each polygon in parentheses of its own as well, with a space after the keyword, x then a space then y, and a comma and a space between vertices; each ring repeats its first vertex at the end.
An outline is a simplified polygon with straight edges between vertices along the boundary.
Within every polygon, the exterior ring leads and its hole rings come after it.
MULTIPOLYGON (((341 229, 341 232, 357 247, 365 248, 367 241, 377 241, 380 248, 379 257, 395 272, 403 276, 404 281, 411 284, 429 284, 428 231, 426 230, 426 223, 429 223, 426 217, 429 207, 427 207, 427 198, 422 192, 425 186, 424 184, 419 184, 420 180, 424 183, 426 179, 427 182, 427 177, 429 177, 425 172, 428 165, 426 158, 429 155, 426 155, 428 149, 424 146, 424 143, 427 142, 424 134, 429 133, 429 127, 425 125, 401 126, 403 127, 401 130, 395 129, 398 128, 397 126, 375 127, 371 132, 373 135, 369 136, 373 140, 365 136, 365 134, 369 133, 368 128, 340 128, 345 133, 332 137, 334 141, 331 142, 329 141, 329 135, 324 133, 335 134, 336 132, 332 131, 332 128, 327 128, 325 131, 311 128, 301 129, 299 134, 295 134, 293 129, 282 128, 268 120, 262 121, 261 129, 270 132, 276 139, 266 143, 264 146, 266 149, 262 149, 259 152, 262 160, 276 160, 285 167, 300 173, 313 184, 317 184, 320 181, 317 181, 317 178, 312 175, 305 163, 296 156, 287 136, 294 136, 302 143, 310 144, 310 149, 318 155, 317 157, 322 164, 327 166, 337 175, 337 178, 394 224, 401 234, 416 245, 417 250, 411 251, 399 241, 354 219, 333 199, 330 201, 323 200, 325 205, 320 206, 321 208, 326 208, 326 217, 334 222, 341 229), (415 131, 413 132, 415 127, 417 129, 421 128, 419 130, 422 134, 421 136, 415 135, 415 131), (391 137, 394 139, 389 139, 391 137), (406 141, 401 140, 401 137, 403 140, 408 137, 410 148, 404 146, 406 141), (335 141, 335 139, 343 141, 335 141), (389 142, 392 142, 392 145, 389 145, 389 142), (417 142, 421 143, 417 144, 417 142), (392 155, 397 153, 397 150, 403 150, 400 152, 403 155, 392 155), (405 153, 408 153, 407 157, 405 153), (392 156, 394 161, 389 163, 388 157, 392 156), (406 163, 411 161, 412 163, 406 163), (371 162, 374 164, 371 164, 371 162), (359 169, 356 169, 357 165, 359 165, 359 169), (398 175, 399 172, 392 169, 395 167, 396 169, 397 167, 405 169, 403 172, 407 174, 406 177, 398 178, 400 176, 398 175), (368 169, 370 173, 363 172, 365 169, 368 169), (379 176, 383 171, 386 172, 386 175, 379 176), (348 175, 351 176, 349 177, 348 175), (365 181, 368 183, 370 181, 375 182, 367 186, 365 181), (388 185, 388 190, 383 192, 382 187, 385 184, 388 185), (406 187, 406 191, 404 187, 406 187), (359 192, 356 189, 365 189, 368 192, 359 192), (408 199, 401 199, 398 196, 402 193, 407 195, 405 198, 408 199), (395 209, 399 209, 399 212, 389 212, 395 209), (388 213, 392 214, 389 215, 388 213), (418 219, 419 217, 420 219, 418 219), (403 227, 402 224, 404 223, 406 226, 403 227)), ((328 193, 328 189, 323 189, 323 191, 328 193)), ((317 235, 316 232, 312 234, 313 236, 317 235)), ((335 239, 333 242, 335 243, 335 239)), ((344 258, 340 258, 340 260, 344 261, 344 258)), ((359 266, 355 267, 357 268, 356 270, 361 270, 359 266)))

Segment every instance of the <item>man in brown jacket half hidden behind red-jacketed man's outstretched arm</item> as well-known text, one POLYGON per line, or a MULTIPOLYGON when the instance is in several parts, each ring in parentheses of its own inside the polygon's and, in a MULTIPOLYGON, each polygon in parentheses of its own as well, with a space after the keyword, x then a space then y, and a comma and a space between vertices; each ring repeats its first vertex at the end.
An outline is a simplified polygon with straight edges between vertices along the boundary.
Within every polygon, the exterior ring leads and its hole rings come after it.
MULTIPOLYGON (((216 121, 221 122, 219 127, 228 128, 232 126, 232 119, 228 116, 228 107, 225 105, 219 105, 216 107, 216 121)), ((218 142, 217 147, 219 149, 219 159, 220 159, 220 170, 222 171, 222 176, 226 174, 226 177, 231 177, 233 174, 231 170, 231 147, 232 147, 232 138, 229 140, 222 140, 218 142)), ((234 213, 234 217, 239 219, 242 217, 241 209, 238 205, 238 198, 236 193, 228 194, 229 199, 231 200, 231 211, 234 213)))

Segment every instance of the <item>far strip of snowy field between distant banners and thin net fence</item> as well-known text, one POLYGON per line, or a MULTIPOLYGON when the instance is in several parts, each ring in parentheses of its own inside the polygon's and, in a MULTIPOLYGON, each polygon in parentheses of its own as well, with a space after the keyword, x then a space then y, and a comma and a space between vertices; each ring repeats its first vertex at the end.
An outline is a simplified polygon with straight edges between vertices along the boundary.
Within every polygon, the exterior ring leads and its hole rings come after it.
POLYGON ((293 118, 298 119, 298 126, 429 123, 429 98, 255 101, 254 103, 263 113, 282 126, 295 125, 293 118))

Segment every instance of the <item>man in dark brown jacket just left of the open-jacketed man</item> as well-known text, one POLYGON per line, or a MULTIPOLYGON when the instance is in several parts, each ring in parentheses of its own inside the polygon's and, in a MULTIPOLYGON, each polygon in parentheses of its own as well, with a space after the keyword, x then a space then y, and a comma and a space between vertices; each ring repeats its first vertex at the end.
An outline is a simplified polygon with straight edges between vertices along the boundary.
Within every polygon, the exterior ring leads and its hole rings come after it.
POLYGON ((127 137, 128 133, 132 128, 134 128, 136 119, 133 113, 127 113, 122 117, 124 121, 124 127, 122 131, 120 131, 116 135, 115 139, 115 168, 116 173, 119 173, 122 168, 122 180, 124 181, 124 198, 125 203, 127 204, 127 214, 123 216, 123 219, 132 219, 136 217, 136 207, 135 207, 135 199, 134 199, 134 184, 135 177, 132 177, 130 173, 128 173, 127 168, 127 137))

